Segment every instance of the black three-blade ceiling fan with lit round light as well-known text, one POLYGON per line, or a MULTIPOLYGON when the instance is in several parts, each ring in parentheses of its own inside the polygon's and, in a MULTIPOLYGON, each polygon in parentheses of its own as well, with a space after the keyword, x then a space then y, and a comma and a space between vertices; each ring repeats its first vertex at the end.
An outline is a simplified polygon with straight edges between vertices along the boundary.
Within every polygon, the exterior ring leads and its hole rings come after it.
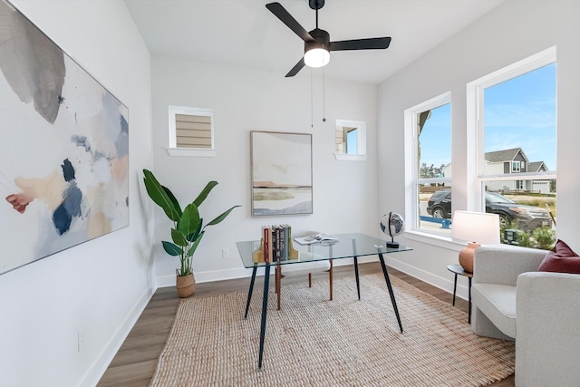
POLYGON ((304 27, 296 22, 296 19, 280 3, 266 4, 266 8, 272 14, 304 40, 304 56, 285 75, 286 77, 295 76, 295 74, 302 70, 304 65, 309 67, 325 66, 330 61, 331 51, 378 50, 388 48, 389 44, 391 44, 390 37, 331 42, 330 34, 318 28, 318 10, 324 6, 324 0, 309 0, 309 5, 316 11, 316 28, 310 32, 306 32, 304 27))

